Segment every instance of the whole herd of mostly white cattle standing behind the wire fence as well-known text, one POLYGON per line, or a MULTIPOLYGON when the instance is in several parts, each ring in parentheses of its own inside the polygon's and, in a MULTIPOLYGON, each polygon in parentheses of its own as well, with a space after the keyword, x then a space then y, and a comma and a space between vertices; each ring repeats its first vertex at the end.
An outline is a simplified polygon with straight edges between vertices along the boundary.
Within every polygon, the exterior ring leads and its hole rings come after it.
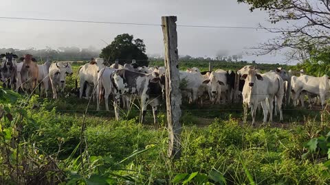
MULTIPOLYGON (((53 98, 65 89, 65 78, 72 75, 72 66, 68 62, 45 62, 37 64, 30 54, 20 58, 13 53, 1 54, 1 81, 3 87, 15 90, 34 92, 41 86, 41 94, 52 88, 53 98)), ((89 92, 96 98, 97 110, 100 110, 100 101, 104 99, 105 108, 109 110, 108 99, 113 95, 115 118, 119 119, 120 103, 122 108, 129 109, 134 99, 140 99, 141 122, 144 121, 146 107, 150 105, 153 110, 154 122, 157 123, 157 107, 164 99, 165 88, 164 66, 146 67, 137 66, 135 60, 131 64, 118 64, 118 60, 111 66, 105 66, 102 58, 80 66, 78 75, 80 79, 79 97, 83 95, 88 99, 89 92)), ((252 124, 255 122, 256 110, 261 106, 263 122, 272 122, 273 112, 280 114, 283 121, 283 103, 293 100, 294 106, 300 101, 304 106, 305 97, 308 97, 309 106, 315 99, 325 105, 330 95, 330 81, 327 75, 313 77, 309 75, 292 75, 292 71, 278 68, 274 71, 261 73, 254 66, 244 66, 238 71, 205 71, 197 68, 179 71, 180 90, 183 99, 189 103, 199 103, 203 97, 212 103, 232 103, 234 99, 241 98, 244 114, 251 109, 252 124), (221 102, 222 101, 222 102, 221 102)), ((76 81, 76 89, 78 84, 76 81)))

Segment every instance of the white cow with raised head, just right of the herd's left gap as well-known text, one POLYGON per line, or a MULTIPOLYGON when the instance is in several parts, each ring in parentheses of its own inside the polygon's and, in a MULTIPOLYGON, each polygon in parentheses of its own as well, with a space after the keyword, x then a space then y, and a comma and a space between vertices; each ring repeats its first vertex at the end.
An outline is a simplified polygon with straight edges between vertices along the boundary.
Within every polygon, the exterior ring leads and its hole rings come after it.
MULTIPOLYGON (((86 87, 86 99, 89 99, 89 90, 93 87, 96 87, 98 84, 98 72, 104 68, 103 58, 96 58, 95 64, 85 64, 80 66, 78 69, 79 79, 80 79, 80 89, 79 89, 79 98, 83 97, 83 90, 85 83, 86 87)), ((93 90, 94 92, 94 90, 93 90)), ((96 92, 96 90, 95 90, 96 92)), ((94 93, 96 95, 96 93, 94 93)))

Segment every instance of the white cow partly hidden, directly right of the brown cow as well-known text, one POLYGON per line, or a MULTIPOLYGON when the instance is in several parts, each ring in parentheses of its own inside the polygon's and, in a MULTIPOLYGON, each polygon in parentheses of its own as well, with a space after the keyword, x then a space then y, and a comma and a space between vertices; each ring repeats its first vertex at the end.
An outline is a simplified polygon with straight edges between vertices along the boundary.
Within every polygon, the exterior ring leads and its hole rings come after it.
MULTIPOLYGON (((41 84, 43 90, 45 90, 46 97, 48 97, 48 89, 50 88, 50 62, 45 64, 38 64, 38 83, 41 84)), ((43 94, 43 92, 40 92, 43 94)))

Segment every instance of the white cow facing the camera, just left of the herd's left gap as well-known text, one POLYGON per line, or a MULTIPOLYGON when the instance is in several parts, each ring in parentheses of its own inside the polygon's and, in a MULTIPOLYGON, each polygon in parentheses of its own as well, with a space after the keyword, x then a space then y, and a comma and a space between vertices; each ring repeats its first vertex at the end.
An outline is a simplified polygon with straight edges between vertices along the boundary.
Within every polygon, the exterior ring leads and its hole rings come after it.
POLYGON ((61 93, 64 92, 67 75, 72 75, 72 66, 69 62, 56 62, 50 65, 50 84, 52 84, 54 99, 57 99, 58 90, 61 90, 61 93))

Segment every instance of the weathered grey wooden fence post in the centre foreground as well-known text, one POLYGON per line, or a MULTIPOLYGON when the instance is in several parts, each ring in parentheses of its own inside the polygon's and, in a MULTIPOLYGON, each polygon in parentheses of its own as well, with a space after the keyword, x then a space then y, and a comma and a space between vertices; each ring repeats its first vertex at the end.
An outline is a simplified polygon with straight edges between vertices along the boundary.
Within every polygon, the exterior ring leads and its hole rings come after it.
POLYGON ((162 16, 166 68, 166 112, 168 122, 168 157, 181 155, 181 92, 179 90, 179 61, 177 53, 176 16, 162 16))

